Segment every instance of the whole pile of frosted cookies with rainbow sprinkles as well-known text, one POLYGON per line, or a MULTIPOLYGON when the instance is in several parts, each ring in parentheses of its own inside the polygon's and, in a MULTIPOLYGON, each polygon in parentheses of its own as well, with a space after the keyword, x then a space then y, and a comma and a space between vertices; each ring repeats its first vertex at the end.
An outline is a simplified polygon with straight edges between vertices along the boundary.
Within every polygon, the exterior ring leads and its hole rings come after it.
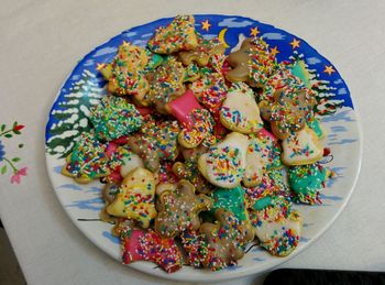
POLYGON ((224 50, 178 15, 98 65, 109 95, 62 173, 106 184, 101 218, 124 263, 218 271, 251 241, 285 256, 301 231, 293 201, 319 200, 330 173, 314 91, 261 37, 224 50))

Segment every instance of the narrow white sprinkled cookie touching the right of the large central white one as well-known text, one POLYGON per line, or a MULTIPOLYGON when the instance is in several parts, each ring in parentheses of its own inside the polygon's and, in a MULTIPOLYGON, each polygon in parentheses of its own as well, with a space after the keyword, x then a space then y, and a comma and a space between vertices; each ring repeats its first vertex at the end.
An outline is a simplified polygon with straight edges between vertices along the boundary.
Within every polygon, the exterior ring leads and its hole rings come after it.
POLYGON ((279 155, 278 139, 274 134, 265 129, 256 134, 250 134, 243 185, 254 187, 262 182, 267 169, 280 167, 279 155))

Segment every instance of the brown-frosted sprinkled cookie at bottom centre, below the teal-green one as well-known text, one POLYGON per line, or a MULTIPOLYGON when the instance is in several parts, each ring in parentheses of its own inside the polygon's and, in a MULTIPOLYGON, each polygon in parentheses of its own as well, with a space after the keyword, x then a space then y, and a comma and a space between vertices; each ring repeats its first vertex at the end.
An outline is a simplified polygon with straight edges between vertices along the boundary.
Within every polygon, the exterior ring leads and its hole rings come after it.
POLYGON ((243 246, 254 238, 253 231, 242 226, 231 211, 218 209, 215 218, 217 223, 205 222, 199 229, 199 232, 205 234, 212 255, 217 257, 215 264, 204 264, 212 271, 221 270, 242 259, 243 246))

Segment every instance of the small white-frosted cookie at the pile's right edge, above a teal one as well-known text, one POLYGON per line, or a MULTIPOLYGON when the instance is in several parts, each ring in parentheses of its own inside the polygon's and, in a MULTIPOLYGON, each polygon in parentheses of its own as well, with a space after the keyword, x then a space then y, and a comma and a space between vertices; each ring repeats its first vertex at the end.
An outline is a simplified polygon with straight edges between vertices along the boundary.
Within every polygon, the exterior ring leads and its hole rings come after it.
POLYGON ((316 132, 309 127, 292 133, 282 141, 280 160, 286 165, 305 165, 316 163, 323 155, 323 146, 316 132))

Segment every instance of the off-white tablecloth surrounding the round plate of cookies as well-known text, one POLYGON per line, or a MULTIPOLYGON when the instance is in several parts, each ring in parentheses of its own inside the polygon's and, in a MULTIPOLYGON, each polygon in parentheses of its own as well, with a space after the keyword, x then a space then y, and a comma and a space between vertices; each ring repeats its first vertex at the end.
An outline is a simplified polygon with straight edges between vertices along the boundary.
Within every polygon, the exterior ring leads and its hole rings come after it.
MULTIPOLYGON (((306 39, 337 66, 361 117, 360 178, 327 233, 282 267, 385 271, 384 1, 111 3, 1 1, 0 122, 25 125, 7 152, 18 153, 18 165, 29 169, 19 185, 0 176, 0 217, 29 284, 169 283, 119 265, 75 228, 48 180, 44 129, 53 99, 77 59, 130 26, 177 13, 239 14, 274 24, 306 39)), ((258 281, 250 276, 237 284, 258 281)))

